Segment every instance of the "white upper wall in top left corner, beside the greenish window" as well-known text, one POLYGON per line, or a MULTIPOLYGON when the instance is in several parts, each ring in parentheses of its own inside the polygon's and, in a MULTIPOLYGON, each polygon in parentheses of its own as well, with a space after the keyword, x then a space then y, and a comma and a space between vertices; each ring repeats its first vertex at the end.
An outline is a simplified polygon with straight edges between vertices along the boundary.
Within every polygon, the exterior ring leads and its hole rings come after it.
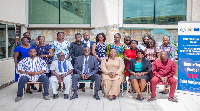
POLYGON ((0 21, 25 24, 25 0, 0 0, 0 21))

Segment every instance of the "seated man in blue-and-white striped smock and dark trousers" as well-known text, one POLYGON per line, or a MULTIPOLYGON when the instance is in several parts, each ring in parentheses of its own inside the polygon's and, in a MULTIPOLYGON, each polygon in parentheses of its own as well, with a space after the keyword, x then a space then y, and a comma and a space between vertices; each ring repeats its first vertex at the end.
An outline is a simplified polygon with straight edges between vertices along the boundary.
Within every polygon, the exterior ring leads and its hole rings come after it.
POLYGON ((30 49, 28 54, 29 57, 24 58, 17 65, 17 71, 21 74, 18 82, 17 98, 15 99, 15 102, 22 99, 23 88, 25 87, 25 83, 29 81, 42 82, 44 88, 43 98, 45 100, 49 100, 49 80, 44 74, 45 71, 48 71, 47 64, 44 60, 36 56, 37 52, 34 48, 30 49))

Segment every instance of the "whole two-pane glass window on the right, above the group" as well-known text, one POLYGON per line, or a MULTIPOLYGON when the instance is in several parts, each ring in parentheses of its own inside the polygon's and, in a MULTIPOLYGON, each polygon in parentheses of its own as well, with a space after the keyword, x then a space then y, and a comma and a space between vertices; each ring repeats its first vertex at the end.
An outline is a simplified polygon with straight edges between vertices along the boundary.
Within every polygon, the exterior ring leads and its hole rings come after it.
POLYGON ((187 0, 124 0, 123 4, 124 24, 177 24, 186 21, 187 0))

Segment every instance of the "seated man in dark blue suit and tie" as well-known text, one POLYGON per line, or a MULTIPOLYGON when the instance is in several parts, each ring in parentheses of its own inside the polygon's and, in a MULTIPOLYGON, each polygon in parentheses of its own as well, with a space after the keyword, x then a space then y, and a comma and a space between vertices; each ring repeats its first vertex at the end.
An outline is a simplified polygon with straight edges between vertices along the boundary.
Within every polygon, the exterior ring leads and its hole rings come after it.
POLYGON ((78 80, 93 80, 95 81, 95 94, 93 97, 96 100, 100 100, 98 96, 98 91, 101 85, 101 76, 96 74, 99 71, 99 64, 96 57, 90 55, 90 48, 84 47, 83 53, 84 55, 79 56, 75 59, 74 70, 76 74, 72 76, 72 88, 73 88, 73 96, 70 100, 78 98, 77 94, 77 84, 78 80))

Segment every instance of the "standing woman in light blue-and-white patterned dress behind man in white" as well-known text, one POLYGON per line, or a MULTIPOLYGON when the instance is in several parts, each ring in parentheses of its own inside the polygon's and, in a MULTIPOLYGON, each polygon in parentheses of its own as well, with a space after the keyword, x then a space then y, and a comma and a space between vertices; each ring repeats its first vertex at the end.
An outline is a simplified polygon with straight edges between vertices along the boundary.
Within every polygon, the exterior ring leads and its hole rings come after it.
MULTIPOLYGON (((63 52, 65 54, 65 60, 70 61, 70 54, 69 54, 69 47, 70 43, 64 40, 64 32, 57 33, 57 40, 52 43, 51 48, 53 49, 54 56, 53 61, 58 60, 57 55, 59 52, 63 52)), ((59 83, 58 90, 61 90, 61 84, 59 83)), ((63 84, 63 90, 65 90, 65 85, 63 84)))

